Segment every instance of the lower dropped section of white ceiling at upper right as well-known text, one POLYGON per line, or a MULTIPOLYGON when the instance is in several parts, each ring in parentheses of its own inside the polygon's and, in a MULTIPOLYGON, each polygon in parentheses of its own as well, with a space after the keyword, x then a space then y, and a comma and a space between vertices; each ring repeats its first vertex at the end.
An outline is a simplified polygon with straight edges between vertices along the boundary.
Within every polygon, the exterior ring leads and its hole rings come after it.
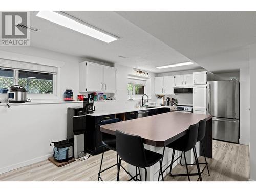
POLYGON ((212 72, 248 66, 255 11, 118 11, 118 14, 212 72))

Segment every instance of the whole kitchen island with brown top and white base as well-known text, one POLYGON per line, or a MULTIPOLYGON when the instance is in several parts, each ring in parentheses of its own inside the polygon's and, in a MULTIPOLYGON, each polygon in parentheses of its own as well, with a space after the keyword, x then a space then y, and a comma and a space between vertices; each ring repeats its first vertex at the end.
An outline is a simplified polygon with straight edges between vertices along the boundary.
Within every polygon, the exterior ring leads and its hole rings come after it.
MULTIPOLYGON (((142 140, 145 144, 145 148, 158 153, 162 153, 164 146, 184 136, 187 133, 188 127, 190 125, 196 124, 203 119, 206 119, 207 123, 205 138, 203 139, 202 143, 204 145, 206 157, 212 158, 211 115, 168 112, 140 119, 133 119, 130 121, 102 125, 100 126, 100 131, 115 135, 115 131, 120 130, 125 133, 139 135, 142 137, 142 140)), ((167 150, 165 150, 164 159, 162 163, 163 169, 170 164, 171 154, 172 150, 167 148, 167 150)), ((200 154, 202 154, 201 150, 200 154)), ((179 154, 177 153, 175 154, 175 156, 178 157, 179 154)), ((191 159, 191 161, 194 160, 191 159)), ((176 164, 174 164, 174 166, 176 164)), ((135 174, 135 167, 133 167, 132 165, 128 166, 128 170, 130 173, 135 174)), ((144 172, 142 169, 141 172, 143 175, 144 172)), ((159 165, 156 164, 152 167, 148 167, 147 173, 147 180, 156 181, 158 179, 159 174, 159 165)), ((167 172, 165 172, 164 175, 166 175, 166 173, 167 172)))

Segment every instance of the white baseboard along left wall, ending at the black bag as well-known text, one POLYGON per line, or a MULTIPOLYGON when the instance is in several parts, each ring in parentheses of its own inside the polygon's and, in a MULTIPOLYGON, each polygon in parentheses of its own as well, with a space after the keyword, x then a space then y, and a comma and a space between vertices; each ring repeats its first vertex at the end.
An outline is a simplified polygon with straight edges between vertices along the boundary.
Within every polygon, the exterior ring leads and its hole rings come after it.
POLYGON ((7 166, 7 167, 0 168, 0 174, 5 173, 5 172, 10 172, 10 170, 14 170, 14 169, 17 169, 17 168, 20 168, 20 167, 31 165, 33 163, 44 161, 44 160, 48 159, 49 157, 52 157, 52 153, 48 154, 48 155, 45 155, 45 156, 37 157, 37 158, 34 158, 34 159, 30 159, 30 160, 27 160, 27 161, 23 161, 23 162, 20 162, 20 163, 16 163, 16 164, 13 164, 13 165, 10 165, 10 166, 7 166))

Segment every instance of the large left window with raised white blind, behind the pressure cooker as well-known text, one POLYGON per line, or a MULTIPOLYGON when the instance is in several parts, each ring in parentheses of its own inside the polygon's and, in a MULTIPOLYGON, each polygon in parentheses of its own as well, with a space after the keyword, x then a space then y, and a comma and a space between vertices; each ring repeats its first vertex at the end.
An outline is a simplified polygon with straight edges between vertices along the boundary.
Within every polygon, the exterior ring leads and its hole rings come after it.
POLYGON ((23 86, 30 99, 58 99, 58 67, 0 59, 0 100, 14 84, 23 86))

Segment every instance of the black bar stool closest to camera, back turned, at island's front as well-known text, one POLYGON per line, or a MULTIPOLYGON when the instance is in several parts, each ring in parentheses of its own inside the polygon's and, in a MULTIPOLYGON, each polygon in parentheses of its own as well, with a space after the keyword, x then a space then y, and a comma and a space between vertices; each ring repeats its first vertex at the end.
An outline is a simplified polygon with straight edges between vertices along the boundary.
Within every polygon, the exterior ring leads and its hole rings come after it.
POLYGON ((127 134, 116 130, 116 150, 119 158, 119 165, 118 165, 118 175, 120 172, 120 165, 121 161, 124 160, 126 163, 133 165, 136 167, 136 180, 137 178, 137 168, 139 169, 139 176, 141 181, 140 175, 140 168, 145 169, 145 181, 147 178, 147 170, 146 167, 150 167, 156 164, 158 161, 160 163, 160 170, 159 174, 162 175, 163 180, 163 172, 162 172, 162 165, 161 159, 163 158, 162 154, 146 150, 144 148, 142 138, 138 135, 127 134))

